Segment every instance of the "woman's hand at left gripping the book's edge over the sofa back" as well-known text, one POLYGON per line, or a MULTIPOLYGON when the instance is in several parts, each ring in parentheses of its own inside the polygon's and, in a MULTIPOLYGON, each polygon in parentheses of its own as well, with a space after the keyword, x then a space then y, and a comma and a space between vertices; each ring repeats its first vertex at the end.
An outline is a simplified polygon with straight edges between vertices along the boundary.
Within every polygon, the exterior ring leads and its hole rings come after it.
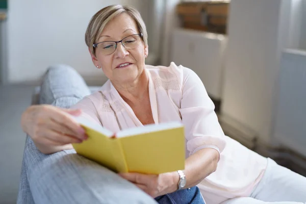
POLYGON ((87 139, 83 127, 69 117, 80 114, 81 110, 34 105, 23 112, 21 126, 41 152, 51 154, 87 139))

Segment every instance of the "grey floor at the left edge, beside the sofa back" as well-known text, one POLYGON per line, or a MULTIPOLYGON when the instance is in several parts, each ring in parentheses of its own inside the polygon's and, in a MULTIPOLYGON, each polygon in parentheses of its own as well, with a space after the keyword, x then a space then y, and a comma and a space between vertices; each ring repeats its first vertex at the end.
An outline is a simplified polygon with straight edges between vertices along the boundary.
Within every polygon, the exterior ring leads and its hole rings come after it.
POLYGON ((34 86, 0 85, 0 203, 16 203, 25 134, 20 116, 34 86))

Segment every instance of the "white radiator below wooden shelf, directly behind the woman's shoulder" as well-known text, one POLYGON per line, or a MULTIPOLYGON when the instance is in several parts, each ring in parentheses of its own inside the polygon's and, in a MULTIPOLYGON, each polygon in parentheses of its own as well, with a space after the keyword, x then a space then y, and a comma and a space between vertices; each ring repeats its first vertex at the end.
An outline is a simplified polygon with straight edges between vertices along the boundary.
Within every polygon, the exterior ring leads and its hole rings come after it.
POLYGON ((227 37, 187 29, 175 29, 172 36, 171 61, 196 72, 209 95, 220 100, 227 37))

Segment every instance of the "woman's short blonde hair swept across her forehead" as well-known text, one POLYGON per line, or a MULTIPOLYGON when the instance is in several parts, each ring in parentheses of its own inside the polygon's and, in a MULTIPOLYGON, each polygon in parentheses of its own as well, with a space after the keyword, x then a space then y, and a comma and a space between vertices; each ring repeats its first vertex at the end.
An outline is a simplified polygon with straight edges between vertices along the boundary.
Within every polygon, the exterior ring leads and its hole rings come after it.
POLYGON ((121 13, 127 13, 135 20, 138 31, 143 35, 142 39, 145 46, 148 45, 148 34, 140 13, 131 6, 111 5, 94 14, 86 29, 85 42, 93 55, 95 55, 95 51, 92 45, 97 43, 96 41, 103 32, 107 23, 121 13))

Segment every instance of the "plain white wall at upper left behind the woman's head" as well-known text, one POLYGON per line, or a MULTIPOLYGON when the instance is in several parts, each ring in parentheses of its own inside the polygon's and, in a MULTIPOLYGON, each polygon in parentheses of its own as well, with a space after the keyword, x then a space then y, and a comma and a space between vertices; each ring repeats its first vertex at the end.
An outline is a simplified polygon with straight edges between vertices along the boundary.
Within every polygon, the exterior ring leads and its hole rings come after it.
POLYGON ((86 79, 104 74, 90 59, 84 34, 92 15, 111 4, 130 4, 145 21, 146 1, 140 0, 11 0, 8 10, 8 81, 38 81, 53 64, 68 64, 86 79))

